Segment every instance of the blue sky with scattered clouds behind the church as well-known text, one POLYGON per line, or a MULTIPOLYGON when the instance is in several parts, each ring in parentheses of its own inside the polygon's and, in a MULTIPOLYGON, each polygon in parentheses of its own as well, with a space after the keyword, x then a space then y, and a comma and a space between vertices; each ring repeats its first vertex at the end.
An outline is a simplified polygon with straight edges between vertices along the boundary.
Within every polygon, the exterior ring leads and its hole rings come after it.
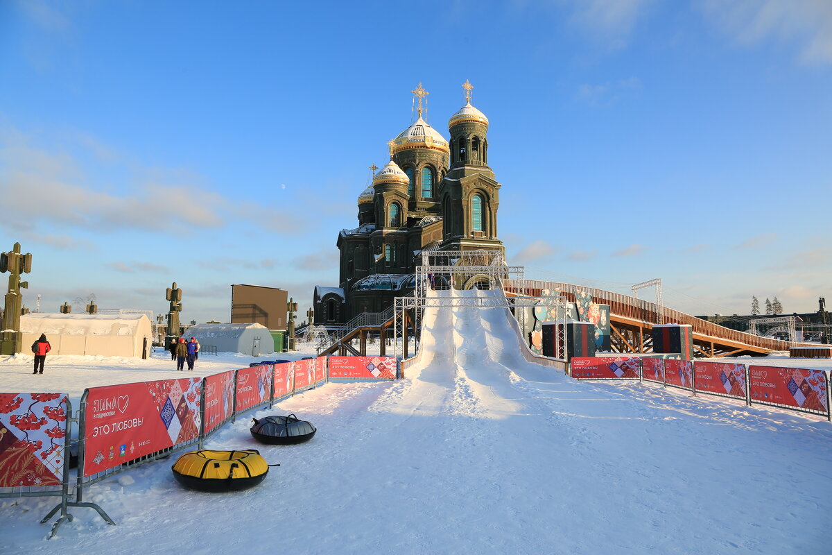
POLYGON ((176 280, 186 321, 235 283, 304 313, 410 91, 448 136, 466 79, 527 277, 832 298, 827 0, 0 2, 0 250, 32 309, 162 312, 176 280))

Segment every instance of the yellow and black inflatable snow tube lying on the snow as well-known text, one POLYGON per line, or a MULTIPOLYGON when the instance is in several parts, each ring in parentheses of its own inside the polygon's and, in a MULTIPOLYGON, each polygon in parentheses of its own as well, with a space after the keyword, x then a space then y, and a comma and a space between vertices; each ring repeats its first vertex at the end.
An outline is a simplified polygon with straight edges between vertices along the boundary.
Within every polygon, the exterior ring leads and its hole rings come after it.
POLYGON ((176 481, 201 492, 239 492, 256 486, 269 472, 265 458, 245 451, 190 451, 171 467, 176 481))

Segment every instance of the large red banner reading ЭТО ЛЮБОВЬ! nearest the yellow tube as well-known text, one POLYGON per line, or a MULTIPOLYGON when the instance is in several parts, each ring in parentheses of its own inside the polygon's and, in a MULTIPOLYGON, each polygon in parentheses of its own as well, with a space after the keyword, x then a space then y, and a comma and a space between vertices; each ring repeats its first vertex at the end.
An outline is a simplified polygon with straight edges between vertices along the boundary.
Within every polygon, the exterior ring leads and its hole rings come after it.
POLYGON ((196 439, 200 378, 87 389, 84 476, 196 439))

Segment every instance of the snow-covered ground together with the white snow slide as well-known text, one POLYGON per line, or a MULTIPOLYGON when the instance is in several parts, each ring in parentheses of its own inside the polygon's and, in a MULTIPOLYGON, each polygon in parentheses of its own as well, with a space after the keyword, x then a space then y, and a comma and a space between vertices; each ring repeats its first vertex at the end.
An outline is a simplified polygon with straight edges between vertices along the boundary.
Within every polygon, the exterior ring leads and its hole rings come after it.
MULTIPOLYGON (((260 487, 195 493, 174 481, 172 460, 150 463, 90 488, 117 526, 76 508, 51 541, 38 520, 54 498, 4 500, 0 553, 832 551, 825 419, 578 382, 528 364, 517 343, 504 309, 430 310, 407 379, 326 384, 251 414, 309 419, 309 444, 256 444, 249 415, 210 439, 281 463, 260 487)), ((176 377, 163 355, 47 358, 42 376, 31 357, 0 360, 0 390, 77 399, 92 385, 176 377)), ((195 374, 254 360, 201 357, 195 374)))

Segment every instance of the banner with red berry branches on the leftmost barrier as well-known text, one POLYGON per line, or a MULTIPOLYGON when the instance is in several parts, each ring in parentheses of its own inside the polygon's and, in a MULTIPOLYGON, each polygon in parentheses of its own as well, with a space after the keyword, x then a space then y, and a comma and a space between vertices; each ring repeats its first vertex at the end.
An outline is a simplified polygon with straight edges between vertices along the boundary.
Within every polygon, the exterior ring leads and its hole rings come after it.
POLYGON ((0 488, 62 483, 67 395, 0 394, 0 488))

